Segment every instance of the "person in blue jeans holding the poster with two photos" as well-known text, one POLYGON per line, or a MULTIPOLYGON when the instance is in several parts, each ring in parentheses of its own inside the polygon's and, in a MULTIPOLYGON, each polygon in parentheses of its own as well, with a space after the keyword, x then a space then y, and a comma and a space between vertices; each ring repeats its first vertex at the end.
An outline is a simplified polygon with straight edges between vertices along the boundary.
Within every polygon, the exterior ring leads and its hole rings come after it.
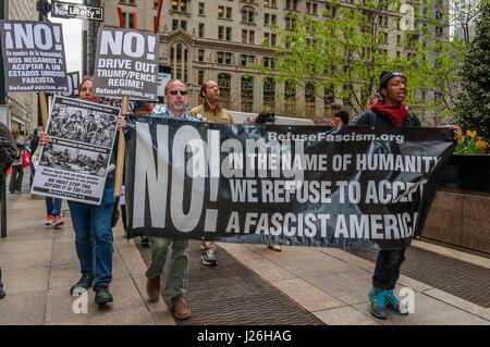
MULTIPOLYGON (((79 99, 101 102, 101 98, 93 95, 91 77, 84 76, 78 87, 79 99)), ((46 146, 50 138, 47 133, 40 136, 39 145, 46 146)), ((115 168, 117 144, 112 150, 109 166, 115 168)), ((105 305, 112 302, 109 292, 112 281, 112 228, 111 218, 114 198, 115 170, 108 171, 106 186, 100 206, 69 201, 70 215, 75 230, 75 248, 81 264, 82 277, 70 288, 70 294, 79 294, 93 288, 95 302, 105 305)))

